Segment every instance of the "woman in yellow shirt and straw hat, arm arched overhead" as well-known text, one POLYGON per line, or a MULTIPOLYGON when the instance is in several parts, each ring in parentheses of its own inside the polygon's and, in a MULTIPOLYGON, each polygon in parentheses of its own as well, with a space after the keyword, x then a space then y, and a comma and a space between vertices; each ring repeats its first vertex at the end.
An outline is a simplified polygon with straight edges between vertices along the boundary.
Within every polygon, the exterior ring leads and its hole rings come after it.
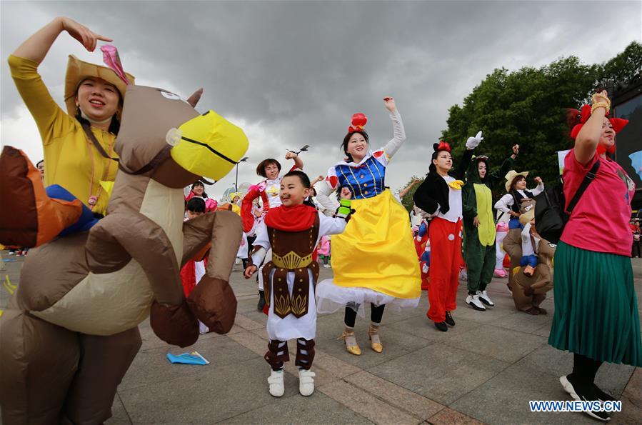
MULTIPOLYGON (((59 17, 29 37, 9 56, 9 68, 40 131, 46 163, 45 186, 58 184, 89 207, 94 215, 103 215, 109 194, 101 181, 116 179, 118 161, 114 141, 120 126, 118 116, 126 83, 111 69, 70 55, 65 77, 67 111, 63 111, 51 98, 38 74, 39 64, 63 31, 88 51, 94 51, 99 40, 111 41, 76 21, 59 17)), ((134 77, 126 76, 133 84, 134 77)))

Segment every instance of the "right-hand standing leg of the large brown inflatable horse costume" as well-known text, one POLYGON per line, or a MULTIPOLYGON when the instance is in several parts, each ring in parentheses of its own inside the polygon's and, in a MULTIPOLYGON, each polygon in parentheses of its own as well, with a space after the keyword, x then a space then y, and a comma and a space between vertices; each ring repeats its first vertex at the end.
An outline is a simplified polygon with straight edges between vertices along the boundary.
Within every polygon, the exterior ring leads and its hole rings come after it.
POLYGON ((101 424, 111 418, 116 388, 141 348, 138 327, 110 336, 80 334, 82 354, 61 422, 101 424))

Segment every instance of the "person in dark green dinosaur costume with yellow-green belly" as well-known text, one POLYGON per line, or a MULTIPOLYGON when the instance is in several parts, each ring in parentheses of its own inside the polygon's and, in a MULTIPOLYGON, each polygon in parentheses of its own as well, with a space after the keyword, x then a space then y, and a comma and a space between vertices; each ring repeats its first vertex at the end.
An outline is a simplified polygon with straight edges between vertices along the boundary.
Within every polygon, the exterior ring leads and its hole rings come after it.
POLYGON ((488 156, 477 156, 468 166, 466 184, 461 190, 463 252, 468 281, 466 304, 478 311, 495 305, 486 291, 486 286, 493 279, 497 254, 491 188, 512 168, 518 153, 519 145, 513 146, 513 154, 503 161, 501 168, 494 171, 489 169, 488 156))

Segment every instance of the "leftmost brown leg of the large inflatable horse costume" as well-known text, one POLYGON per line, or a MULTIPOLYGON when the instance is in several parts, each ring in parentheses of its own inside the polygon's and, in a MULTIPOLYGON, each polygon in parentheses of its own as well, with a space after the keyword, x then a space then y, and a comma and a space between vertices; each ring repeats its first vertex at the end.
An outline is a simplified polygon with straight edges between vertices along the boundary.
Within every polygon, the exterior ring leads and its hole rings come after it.
POLYGON ((79 358, 76 332, 6 309, 0 318, 2 423, 57 424, 79 358))

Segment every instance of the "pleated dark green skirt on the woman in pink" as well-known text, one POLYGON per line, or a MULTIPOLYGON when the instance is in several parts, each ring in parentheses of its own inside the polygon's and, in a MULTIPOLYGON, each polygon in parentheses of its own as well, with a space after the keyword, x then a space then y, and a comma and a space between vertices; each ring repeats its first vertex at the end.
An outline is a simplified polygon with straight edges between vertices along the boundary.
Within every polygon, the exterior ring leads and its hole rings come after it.
POLYGON ((555 316, 548 344, 591 359, 642 366, 631 259, 560 241, 554 266, 555 316))

